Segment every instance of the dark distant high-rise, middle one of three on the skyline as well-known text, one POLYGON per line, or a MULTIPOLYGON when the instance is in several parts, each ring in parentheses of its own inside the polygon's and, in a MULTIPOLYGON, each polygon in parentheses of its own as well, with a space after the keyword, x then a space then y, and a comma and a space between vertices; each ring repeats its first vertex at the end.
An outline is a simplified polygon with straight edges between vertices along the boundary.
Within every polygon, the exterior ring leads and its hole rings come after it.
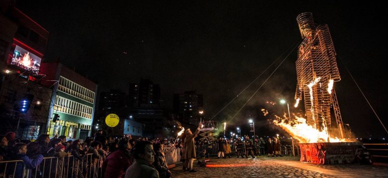
POLYGON ((129 84, 129 103, 132 107, 159 107, 160 86, 148 79, 129 84))

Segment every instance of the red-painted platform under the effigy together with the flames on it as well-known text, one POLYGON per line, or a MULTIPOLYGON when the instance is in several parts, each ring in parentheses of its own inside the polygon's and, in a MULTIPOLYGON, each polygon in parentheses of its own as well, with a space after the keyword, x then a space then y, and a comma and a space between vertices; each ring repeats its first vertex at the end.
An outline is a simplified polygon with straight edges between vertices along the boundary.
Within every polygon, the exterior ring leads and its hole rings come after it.
POLYGON ((355 161, 360 143, 354 138, 340 139, 331 136, 327 127, 319 130, 313 125, 308 125, 306 119, 299 117, 295 117, 292 121, 277 117, 273 122, 298 140, 300 162, 350 164, 355 161))

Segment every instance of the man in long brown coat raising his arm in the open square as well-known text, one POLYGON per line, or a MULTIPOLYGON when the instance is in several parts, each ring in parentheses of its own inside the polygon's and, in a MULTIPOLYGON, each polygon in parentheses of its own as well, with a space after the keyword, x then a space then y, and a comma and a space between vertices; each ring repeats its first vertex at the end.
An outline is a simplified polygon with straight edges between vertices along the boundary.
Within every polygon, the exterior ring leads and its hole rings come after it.
MULTIPOLYGON (((198 136, 199 133, 199 128, 201 127, 201 123, 198 124, 198 128, 196 128, 194 134, 192 131, 189 129, 186 130, 186 138, 184 142, 184 151, 183 151, 183 158, 185 160, 185 164, 183 165, 184 168, 187 168, 190 172, 196 172, 193 170, 193 162, 194 158, 196 157, 195 155, 195 146, 194 146, 194 138, 198 136)), ((186 170, 185 170, 186 171, 186 170)))

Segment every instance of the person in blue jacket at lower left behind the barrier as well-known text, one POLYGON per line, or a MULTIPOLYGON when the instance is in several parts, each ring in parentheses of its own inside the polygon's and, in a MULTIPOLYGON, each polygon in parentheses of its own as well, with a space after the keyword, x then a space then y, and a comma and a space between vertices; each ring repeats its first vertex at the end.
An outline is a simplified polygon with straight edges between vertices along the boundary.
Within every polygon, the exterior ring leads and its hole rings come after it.
MULTIPOLYGON (((24 166, 30 174, 28 174, 28 178, 31 178, 31 170, 36 168, 43 160, 43 155, 38 154, 33 158, 30 158, 26 155, 27 153, 27 145, 25 143, 15 143, 13 145, 13 151, 16 153, 16 159, 22 160, 24 166)), ((23 175, 23 164, 17 164, 15 168, 14 178, 22 178, 23 175)))

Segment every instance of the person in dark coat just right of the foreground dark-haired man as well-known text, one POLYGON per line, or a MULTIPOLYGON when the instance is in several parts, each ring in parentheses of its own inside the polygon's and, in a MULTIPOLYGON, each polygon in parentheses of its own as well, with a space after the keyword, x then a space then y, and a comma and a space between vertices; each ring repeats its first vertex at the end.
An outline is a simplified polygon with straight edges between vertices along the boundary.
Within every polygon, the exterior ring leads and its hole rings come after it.
POLYGON ((158 170, 160 178, 170 178, 171 172, 167 167, 166 157, 163 153, 164 144, 162 143, 154 143, 154 167, 158 170))

